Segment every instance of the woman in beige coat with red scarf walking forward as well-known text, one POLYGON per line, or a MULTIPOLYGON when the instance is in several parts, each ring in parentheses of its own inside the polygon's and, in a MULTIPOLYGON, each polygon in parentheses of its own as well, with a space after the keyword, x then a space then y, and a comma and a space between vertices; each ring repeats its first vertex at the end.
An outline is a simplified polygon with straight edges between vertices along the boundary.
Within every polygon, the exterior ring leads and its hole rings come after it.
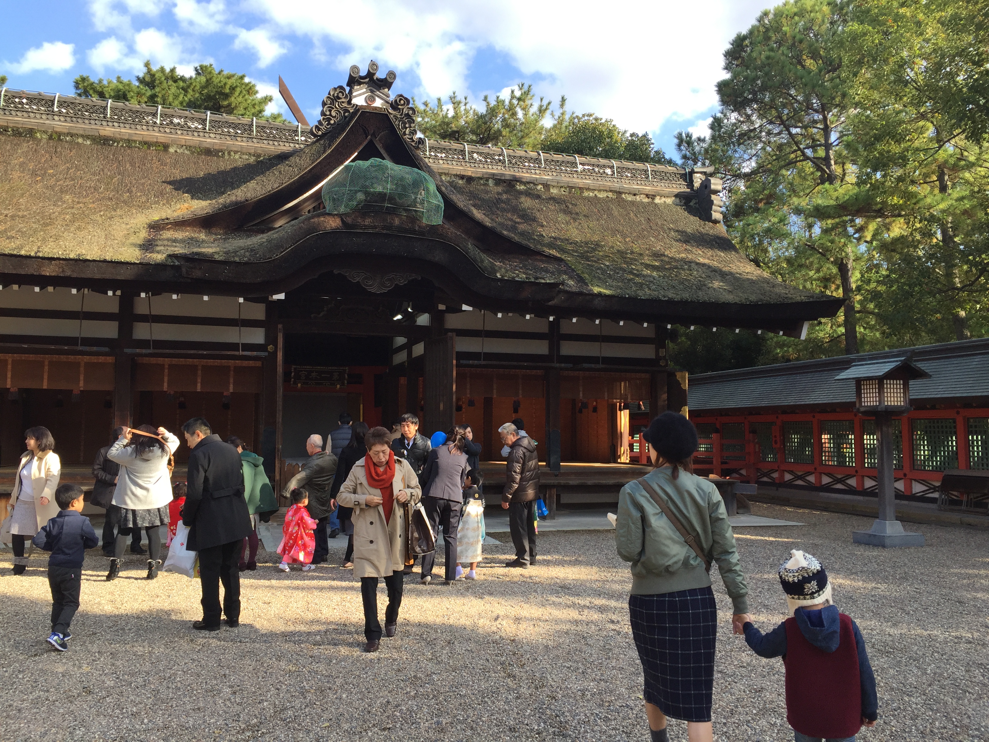
POLYGON ((402 605, 405 575, 405 508, 419 502, 422 491, 415 470, 392 452, 392 433, 372 427, 364 437, 368 452, 354 464, 337 500, 352 508, 354 575, 361 580, 364 602, 365 652, 377 652, 381 641, 378 621, 378 580, 385 579, 388 607, 385 635, 395 636, 402 605))

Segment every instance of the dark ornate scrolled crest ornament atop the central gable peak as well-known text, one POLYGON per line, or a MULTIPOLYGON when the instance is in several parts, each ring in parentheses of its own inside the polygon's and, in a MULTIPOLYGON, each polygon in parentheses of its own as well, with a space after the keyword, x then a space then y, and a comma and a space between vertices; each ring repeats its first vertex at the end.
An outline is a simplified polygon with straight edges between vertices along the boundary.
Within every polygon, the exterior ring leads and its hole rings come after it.
POLYGON ((311 130, 314 137, 322 137, 358 108, 380 108, 392 117, 405 141, 414 147, 420 145, 422 139, 416 136, 415 107, 404 95, 392 97, 392 84, 397 77, 395 70, 388 70, 384 77, 378 76, 378 70, 378 62, 374 59, 368 64, 368 71, 364 74, 361 74, 359 66, 351 65, 347 87, 337 85, 330 88, 322 99, 319 121, 311 130))

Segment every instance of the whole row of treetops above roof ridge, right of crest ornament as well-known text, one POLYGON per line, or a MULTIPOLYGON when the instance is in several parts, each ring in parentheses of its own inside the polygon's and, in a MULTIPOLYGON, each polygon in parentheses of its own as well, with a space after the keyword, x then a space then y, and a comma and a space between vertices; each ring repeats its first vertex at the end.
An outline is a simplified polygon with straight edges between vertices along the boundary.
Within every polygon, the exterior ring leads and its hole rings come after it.
POLYGON ((593 114, 568 113, 566 97, 560 99, 559 113, 554 114, 551 103, 543 98, 536 101, 532 85, 520 82, 506 98, 497 95, 492 100, 486 95, 482 100, 483 111, 456 92, 446 104, 440 98, 435 104, 416 103, 419 132, 426 139, 674 164, 648 134, 627 132, 593 114), (547 117, 553 119, 549 127, 547 117))

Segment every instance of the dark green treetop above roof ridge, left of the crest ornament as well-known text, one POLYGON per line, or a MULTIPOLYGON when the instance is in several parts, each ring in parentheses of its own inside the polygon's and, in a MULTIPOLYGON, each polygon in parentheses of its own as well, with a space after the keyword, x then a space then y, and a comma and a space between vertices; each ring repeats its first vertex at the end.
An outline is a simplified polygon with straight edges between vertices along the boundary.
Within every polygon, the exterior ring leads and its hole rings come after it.
POLYGON ((79 75, 73 82, 76 95, 86 98, 112 98, 127 103, 285 121, 278 114, 264 116, 272 96, 258 95, 257 86, 245 75, 218 70, 212 64, 199 64, 191 76, 186 76, 175 67, 155 69, 150 61, 145 61, 144 71, 133 81, 120 76, 113 80, 102 77, 93 80, 89 75, 79 75))

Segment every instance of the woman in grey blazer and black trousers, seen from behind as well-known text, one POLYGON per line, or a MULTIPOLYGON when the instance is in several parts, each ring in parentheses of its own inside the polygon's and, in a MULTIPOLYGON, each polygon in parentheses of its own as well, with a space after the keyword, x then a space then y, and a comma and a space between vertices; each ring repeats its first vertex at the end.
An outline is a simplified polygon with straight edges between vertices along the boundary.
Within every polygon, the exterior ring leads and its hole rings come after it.
MULTIPOLYGON (((460 511, 464 505, 464 481, 467 479, 467 454, 464 447, 467 438, 462 427, 454 427, 446 434, 446 443, 429 452, 426 466, 422 470, 423 505, 426 517, 435 533, 443 528, 445 542, 446 585, 463 582, 457 577, 457 526, 460 525, 460 511)), ((422 584, 432 582, 433 562, 436 552, 422 557, 422 584)))

